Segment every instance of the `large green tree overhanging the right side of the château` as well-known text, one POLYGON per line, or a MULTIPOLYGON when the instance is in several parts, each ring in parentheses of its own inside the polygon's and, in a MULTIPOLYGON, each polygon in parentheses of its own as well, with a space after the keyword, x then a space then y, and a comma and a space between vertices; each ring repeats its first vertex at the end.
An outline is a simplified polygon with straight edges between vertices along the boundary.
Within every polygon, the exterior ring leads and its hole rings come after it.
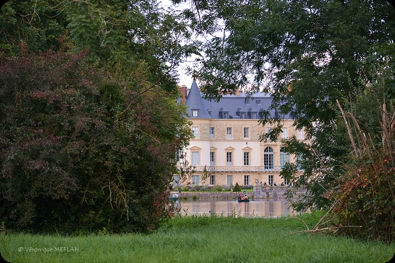
MULTIPOLYGON (((218 100, 237 87, 251 96, 260 89, 271 93, 273 104, 260 123, 273 129, 261 140, 276 141, 282 131, 281 119, 270 110, 290 114, 295 128, 314 139, 311 146, 296 138, 282 141, 287 152, 303 160, 303 183, 309 182, 310 195, 294 205, 297 210, 329 208, 332 201, 323 194, 338 184, 352 150, 336 100, 355 98, 369 48, 393 42, 393 6, 383 0, 195 0, 192 6, 184 15, 208 39, 191 69, 202 94, 218 100)), ((294 168, 282 175, 298 185, 294 168)))

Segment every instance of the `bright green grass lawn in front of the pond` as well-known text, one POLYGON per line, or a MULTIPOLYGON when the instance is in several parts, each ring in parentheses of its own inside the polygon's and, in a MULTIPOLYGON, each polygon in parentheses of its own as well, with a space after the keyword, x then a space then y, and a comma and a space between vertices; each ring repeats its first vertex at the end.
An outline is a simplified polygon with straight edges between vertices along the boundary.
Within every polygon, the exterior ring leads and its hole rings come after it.
MULTIPOLYGON (((313 227, 319 216, 299 217, 313 227)), ((150 235, 0 234, 0 253, 11 263, 384 263, 395 253, 395 244, 286 235, 306 227, 285 219, 190 216, 174 219, 150 235), (52 252, 42 252, 44 248, 52 252)))

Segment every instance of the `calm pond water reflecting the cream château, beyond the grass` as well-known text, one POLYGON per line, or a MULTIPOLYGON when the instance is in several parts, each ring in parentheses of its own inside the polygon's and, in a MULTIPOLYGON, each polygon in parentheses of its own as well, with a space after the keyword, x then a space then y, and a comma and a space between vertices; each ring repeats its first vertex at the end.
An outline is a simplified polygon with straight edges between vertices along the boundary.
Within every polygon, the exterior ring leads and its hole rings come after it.
POLYGON ((248 203, 236 202, 230 199, 198 199, 177 200, 181 213, 187 215, 216 215, 228 216, 235 214, 237 217, 279 217, 295 215, 290 204, 284 198, 269 198, 250 200, 248 203))

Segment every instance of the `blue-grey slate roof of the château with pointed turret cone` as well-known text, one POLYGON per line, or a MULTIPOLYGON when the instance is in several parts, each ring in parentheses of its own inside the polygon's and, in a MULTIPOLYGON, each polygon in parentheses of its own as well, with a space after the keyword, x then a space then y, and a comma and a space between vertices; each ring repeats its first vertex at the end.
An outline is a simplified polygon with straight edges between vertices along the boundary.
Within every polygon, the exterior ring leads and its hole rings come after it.
MULTIPOLYGON (((188 113, 190 118, 212 118, 223 119, 225 118, 253 118, 256 113, 256 118, 261 117, 260 112, 267 110, 272 104, 272 97, 268 93, 258 92, 253 95, 253 98, 246 98, 246 93, 237 95, 224 95, 219 102, 208 101, 201 98, 201 93, 194 80, 189 90, 185 105, 189 107, 188 113), (198 116, 193 117, 192 110, 198 110, 198 116), (244 114, 243 114, 244 113, 244 114), (227 116, 227 117, 226 117, 227 116)), ((275 116, 276 111, 272 110, 272 116, 275 116)), ((288 115, 284 116, 285 119, 290 119, 288 115)))

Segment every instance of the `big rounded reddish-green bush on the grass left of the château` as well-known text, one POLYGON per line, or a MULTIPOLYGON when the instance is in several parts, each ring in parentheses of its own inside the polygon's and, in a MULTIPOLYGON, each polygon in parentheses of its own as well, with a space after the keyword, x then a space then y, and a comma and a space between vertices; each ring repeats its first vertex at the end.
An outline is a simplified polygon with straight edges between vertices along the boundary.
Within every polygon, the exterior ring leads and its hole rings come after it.
POLYGON ((10 229, 145 232, 171 213, 174 152, 191 135, 177 94, 138 96, 84 59, 0 57, 0 218, 10 229))

